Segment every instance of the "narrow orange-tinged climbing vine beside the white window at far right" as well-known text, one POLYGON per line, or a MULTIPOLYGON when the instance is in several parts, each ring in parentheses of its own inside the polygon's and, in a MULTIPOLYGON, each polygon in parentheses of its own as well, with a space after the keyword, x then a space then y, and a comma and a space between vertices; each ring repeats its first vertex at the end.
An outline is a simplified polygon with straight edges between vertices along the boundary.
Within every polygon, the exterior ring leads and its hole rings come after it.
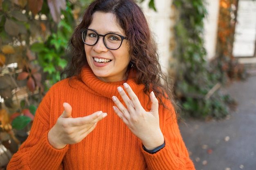
POLYGON ((232 54, 237 6, 238 0, 219 1, 216 57, 211 63, 218 67, 214 72, 219 75, 219 81, 222 83, 229 79, 245 79, 247 77, 247 71, 243 64, 239 64, 232 54))

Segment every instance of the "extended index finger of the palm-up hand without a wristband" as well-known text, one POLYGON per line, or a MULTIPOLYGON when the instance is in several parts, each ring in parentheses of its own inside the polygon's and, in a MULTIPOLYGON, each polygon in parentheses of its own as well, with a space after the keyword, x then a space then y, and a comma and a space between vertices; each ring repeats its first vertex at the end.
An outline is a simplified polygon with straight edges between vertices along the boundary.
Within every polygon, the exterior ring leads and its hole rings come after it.
POLYGON ((102 111, 97 111, 85 117, 76 117, 74 119, 71 119, 70 126, 83 126, 85 124, 95 124, 106 116, 107 116, 107 113, 103 113, 102 111))

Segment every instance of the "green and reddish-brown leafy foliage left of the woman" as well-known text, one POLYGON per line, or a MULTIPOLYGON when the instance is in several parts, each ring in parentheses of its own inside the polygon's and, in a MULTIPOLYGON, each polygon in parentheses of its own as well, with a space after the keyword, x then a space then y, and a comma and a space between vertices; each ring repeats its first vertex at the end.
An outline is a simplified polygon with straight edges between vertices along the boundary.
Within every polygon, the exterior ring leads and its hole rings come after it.
POLYGON ((67 42, 89 2, 0 0, 0 140, 13 153, 45 92, 60 80, 67 42))

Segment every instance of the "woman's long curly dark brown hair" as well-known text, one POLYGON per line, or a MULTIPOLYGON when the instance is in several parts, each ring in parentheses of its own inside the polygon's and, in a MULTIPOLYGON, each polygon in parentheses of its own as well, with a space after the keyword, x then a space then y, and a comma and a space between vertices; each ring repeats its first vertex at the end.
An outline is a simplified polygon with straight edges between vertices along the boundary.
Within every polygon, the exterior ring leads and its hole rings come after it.
MULTIPOLYGON (((79 75, 82 67, 88 65, 81 30, 88 28, 96 11, 113 13, 116 16, 117 23, 124 30, 129 41, 130 66, 127 72, 135 69, 137 84, 145 85, 144 93, 149 96, 149 93, 154 91, 161 104, 164 97, 169 99, 176 108, 167 76, 161 71, 157 46, 148 22, 141 8, 133 0, 95 0, 88 6, 69 42, 72 62, 64 71, 67 77, 79 75)), ((148 104, 149 102, 150 100, 148 104)))

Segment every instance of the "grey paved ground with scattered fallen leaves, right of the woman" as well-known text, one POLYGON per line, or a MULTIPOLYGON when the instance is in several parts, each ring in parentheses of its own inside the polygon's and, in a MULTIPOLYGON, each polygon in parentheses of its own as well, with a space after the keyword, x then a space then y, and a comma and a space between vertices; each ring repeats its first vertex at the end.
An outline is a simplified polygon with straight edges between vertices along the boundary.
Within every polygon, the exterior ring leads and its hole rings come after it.
POLYGON ((196 170, 256 170, 256 75, 225 91, 238 106, 227 119, 187 119, 180 131, 196 170))

